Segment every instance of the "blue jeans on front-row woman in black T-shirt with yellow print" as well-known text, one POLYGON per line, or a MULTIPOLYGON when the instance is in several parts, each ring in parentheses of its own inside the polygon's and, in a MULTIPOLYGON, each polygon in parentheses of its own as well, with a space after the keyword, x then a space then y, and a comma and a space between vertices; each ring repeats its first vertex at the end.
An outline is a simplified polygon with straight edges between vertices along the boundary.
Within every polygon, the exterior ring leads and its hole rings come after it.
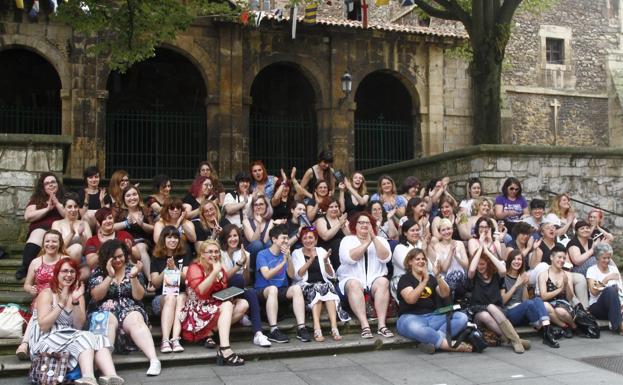
MULTIPOLYGON (((467 326, 465 313, 455 312, 450 321, 452 337, 458 335, 467 326)), ((403 314, 396 323, 398 334, 425 344, 435 345, 439 349, 446 338, 445 314, 403 314)))

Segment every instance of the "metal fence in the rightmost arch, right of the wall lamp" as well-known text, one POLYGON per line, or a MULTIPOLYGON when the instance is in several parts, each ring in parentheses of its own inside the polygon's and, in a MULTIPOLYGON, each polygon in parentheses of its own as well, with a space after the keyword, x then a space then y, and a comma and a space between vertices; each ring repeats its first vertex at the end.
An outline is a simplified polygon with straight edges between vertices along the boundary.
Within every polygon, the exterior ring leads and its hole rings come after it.
POLYGON ((413 126, 406 121, 355 120, 355 168, 365 170, 412 159, 413 126))

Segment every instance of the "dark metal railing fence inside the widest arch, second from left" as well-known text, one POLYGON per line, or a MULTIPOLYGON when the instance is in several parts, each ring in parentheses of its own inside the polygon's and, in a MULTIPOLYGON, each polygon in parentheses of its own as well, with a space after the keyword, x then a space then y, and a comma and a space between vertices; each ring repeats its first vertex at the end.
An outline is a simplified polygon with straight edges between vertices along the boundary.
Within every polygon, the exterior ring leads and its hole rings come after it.
POLYGON ((132 178, 167 174, 192 179, 207 155, 205 113, 109 112, 106 174, 125 169, 132 178))

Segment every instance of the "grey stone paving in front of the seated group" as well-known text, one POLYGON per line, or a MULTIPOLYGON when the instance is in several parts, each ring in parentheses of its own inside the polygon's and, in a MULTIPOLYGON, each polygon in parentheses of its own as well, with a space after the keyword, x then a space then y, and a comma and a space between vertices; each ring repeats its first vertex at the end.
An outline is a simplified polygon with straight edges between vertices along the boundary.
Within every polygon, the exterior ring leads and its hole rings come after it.
MULTIPOLYGON (((603 333, 599 340, 576 337, 550 349, 532 339, 523 355, 510 347, 490 348, 483 354, 437 353, 416 349, 349 353, 309 358, 247 362, 242 367, 214 364, 164 368, 148 378, 146 368, 120 371, 127 384, 275 385, 275 384, 617 384, 623 376, 588 365, 580 359, 618 356, 623 359, 623 337, 603 333)), ((0 379, 0 384, 27 384, 24 378, 0 379)))

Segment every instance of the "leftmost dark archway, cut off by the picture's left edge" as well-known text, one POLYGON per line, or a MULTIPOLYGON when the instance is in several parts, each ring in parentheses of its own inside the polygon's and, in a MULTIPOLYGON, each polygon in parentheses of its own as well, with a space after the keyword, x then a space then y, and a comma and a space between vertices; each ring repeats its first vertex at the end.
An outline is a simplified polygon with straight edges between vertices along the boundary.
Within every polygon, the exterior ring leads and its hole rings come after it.
POLYGON ((0 132, 61 134, 61 79, 40 55, 0 51, 0 132))

